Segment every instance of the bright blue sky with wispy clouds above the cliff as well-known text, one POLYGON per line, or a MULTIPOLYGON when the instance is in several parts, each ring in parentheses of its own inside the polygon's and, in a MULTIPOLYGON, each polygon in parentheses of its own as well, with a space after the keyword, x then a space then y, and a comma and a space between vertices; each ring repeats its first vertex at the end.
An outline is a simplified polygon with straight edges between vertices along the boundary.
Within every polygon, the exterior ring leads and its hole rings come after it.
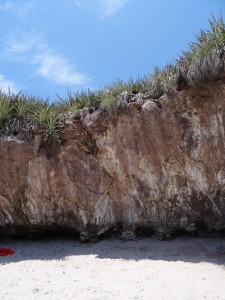
POLYGON ((225 0, 0 0, 0 87, 57 99, 175 60, 225 0))

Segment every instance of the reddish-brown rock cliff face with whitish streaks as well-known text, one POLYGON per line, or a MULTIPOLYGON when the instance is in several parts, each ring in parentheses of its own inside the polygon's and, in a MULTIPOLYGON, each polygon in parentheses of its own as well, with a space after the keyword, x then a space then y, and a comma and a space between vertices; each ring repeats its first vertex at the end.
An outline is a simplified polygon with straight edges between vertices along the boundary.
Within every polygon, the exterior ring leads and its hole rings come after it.
POLYGON ((220 82, 95 111, 56 145, 2 136, 0 233, 224 229, 224 163, 220 82))

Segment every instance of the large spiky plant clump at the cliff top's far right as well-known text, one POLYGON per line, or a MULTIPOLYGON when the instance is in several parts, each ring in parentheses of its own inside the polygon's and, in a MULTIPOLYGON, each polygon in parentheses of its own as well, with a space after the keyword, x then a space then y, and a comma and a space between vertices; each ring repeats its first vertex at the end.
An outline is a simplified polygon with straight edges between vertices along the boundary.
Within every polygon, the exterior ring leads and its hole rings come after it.
POLYGON ((222 16, 209 20, 210 29, 201 30, 189 50, 177 63, 177 78, 190 84, 211 80, 225 70, 225 25, 222 16))

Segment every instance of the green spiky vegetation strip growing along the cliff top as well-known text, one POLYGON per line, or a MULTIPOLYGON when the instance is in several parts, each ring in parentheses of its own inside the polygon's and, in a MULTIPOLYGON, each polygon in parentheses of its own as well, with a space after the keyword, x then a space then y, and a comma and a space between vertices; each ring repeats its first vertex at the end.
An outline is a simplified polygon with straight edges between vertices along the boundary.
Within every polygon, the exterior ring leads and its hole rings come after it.
POLYGON ((216 79, 225 71, 225 24, 222 16, 212 16, 210 30, 201 30, 189 50, 182 53, 175 64, 155 68, 154 73, 128 82, 117 80, 98 91, 68 93, 67 99, 58 96, 57 103, 33 96, 0 92, 0 130, 4 134, 16 135, 20 130, 38 129, 44 141, 56 141, 60 136, 60 114, 79 111, 84 107, 93 111, 113 111, 119 103, 119 95, 148 93, 157 99, 163 94, 198 86, 216 79))

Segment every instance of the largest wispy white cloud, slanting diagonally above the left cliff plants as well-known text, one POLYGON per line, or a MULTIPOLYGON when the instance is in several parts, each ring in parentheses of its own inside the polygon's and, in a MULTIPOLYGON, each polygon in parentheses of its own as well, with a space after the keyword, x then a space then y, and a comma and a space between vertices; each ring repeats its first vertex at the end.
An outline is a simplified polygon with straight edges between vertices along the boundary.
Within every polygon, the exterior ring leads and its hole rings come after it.
POLYGON ((63 55, 51 49, 42 36, 14 33, 5 41, 5 54, 19 63, 34 66, 36 73, 61 85, 85 84, 87 75, 76 71, 63 55))

